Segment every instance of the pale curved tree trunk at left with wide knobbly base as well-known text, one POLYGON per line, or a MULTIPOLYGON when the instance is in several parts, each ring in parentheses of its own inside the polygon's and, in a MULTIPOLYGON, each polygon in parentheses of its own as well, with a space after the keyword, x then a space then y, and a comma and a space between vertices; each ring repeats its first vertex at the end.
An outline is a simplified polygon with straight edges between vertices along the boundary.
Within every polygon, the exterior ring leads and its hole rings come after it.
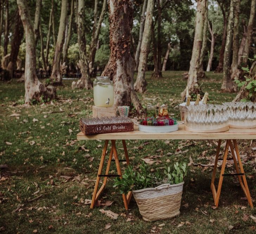
POLYGON ((17 0, 17 4, 26 36, 25 104, 30 104, 33 100, 40 101, 41 96, 43 96, 44 100, 55 98, 55 87, 50 85, 45 87, 36 75, 36 45, 27 1, 17 0))

